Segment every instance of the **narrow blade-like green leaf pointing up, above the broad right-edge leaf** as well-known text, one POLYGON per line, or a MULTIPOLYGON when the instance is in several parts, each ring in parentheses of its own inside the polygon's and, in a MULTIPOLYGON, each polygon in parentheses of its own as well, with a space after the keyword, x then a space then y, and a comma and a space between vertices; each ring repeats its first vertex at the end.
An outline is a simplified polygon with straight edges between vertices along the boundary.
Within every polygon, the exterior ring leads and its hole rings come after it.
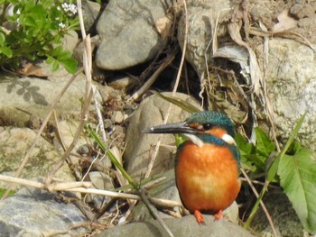
POLYGON ((285 152, 289 149, 290 145, 292 144, 292 142, 294 141, 294 138, 296 136, 296 134, 300 131, 300 128, 302 126, 302 122, 304 121, 306 112, 304 114, 302 114, 301 118, 299 119, 299 121, 296 123, 293 132, 291 133, 291 136, 289 138, 289 140, 286 142, 282 152, 271 162, 270 167, 267 168, 266 171, 266 179, 268 181, 274 181, 275 180, 275 175, 279 166, 279 161, 280 159, 283 157, 283 155, 285 155, 285 152))

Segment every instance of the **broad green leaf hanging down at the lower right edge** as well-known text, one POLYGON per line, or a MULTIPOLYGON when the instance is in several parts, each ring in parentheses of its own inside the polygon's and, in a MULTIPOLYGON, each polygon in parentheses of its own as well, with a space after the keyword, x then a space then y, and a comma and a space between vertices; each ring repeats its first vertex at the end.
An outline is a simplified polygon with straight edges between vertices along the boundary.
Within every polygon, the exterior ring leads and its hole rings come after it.
MULTIPOLYGON (((297 147, 297 146, 296 146, 297 147)), ((277 174, 281 186, 293 204, 302 226, 316 233, 316 155, 311 150, 296 148, 293 156, 280 158, 277 174)))

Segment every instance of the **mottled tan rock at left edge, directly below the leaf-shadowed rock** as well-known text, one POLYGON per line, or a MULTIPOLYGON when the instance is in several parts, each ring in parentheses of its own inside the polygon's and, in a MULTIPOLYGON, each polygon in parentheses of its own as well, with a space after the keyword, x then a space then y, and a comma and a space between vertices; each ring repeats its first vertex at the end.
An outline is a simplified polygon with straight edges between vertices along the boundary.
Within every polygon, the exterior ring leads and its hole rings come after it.
MULTIPOLYGON (((21 160, 35 138, 36 132, 28 128, 2 127, 0 130, 0 173, 14 176, 21 160)), ((40 137, 33 149, 28 163, 23 169, 22 178, 46 177, 52 166, 60 159, 60 153, 40 137)), ((72 181, 69 167, 64 164, 56 173, 56 178, 72 181)), ((8 187, 7 183, 0 183, 1 187, 8 187)))

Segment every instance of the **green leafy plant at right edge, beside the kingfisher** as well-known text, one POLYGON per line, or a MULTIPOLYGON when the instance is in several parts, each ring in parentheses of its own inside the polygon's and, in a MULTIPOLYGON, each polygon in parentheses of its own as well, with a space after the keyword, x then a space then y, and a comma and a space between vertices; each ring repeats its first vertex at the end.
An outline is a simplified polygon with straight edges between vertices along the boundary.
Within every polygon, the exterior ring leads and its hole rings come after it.
MULTIPOLYGON (((290 199, 304 229, 311 233, 316 232, 315 154, 312 150, 302 148, 299 142, 294 141, 295 136, 302 126, 304 117, 305 114, 302 115, 294 127, 293 132, 285 144, 283 150, 276 155, 275 159, 270 164, 268 162, 269 160, 265 160, 265 166, 267 166, 267 169, 265 170, 265 185, 244 225, 245 227, 248 227, 251 223, 258 209, 259 202, 265 195, 269 184, 271 182, 276 182, 279 183, 281 187, 283 187, 283 191, 290 199)), ((250 153, 246 153, 246 150, 243 150, 245 144, 238 146, 241 150, 242 158, 244 156, 244 158, 251 157, 256 158, 254 160, 260 160, 258 158, 260 153, 265 155, 270 154, 273 151, 273 142, 270 141, 266 136, 262 136, 261 139, 257 138, 256 141, 257 143, 255 152, 252 150, 250 153), (256 150, 259 150, 259 152, 256 152, 256 150)), ((256 166, 256 168, 260 168, 260 166, 256 166)))

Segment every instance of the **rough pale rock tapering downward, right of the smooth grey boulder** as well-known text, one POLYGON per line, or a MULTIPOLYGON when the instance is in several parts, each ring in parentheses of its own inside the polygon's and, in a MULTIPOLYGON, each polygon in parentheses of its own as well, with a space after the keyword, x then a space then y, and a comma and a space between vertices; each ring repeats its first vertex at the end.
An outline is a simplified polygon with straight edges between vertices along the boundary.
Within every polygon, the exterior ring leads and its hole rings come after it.
MULTIPOLYGON (((187 51, 185 58, 191 63, 195 71, 201 76, 206 68, 205 55, 210 62, 212 52, 209 42, 212 40, 212 32, 215 27, 215 22, 219 14, 220 19, 228 13, 229 8, 233 5, 233 1, 221 0, 203 0, 203 1, 188 1, 188 36, 187 36, 187 51)), ((181 16, 178 30, 178 41, 181 47, 183 47, 183 41, 185 36, 185 16, 181 16)), ((218 25, 218 41, 220 37, 227 35, 226 30, 218 25)))

